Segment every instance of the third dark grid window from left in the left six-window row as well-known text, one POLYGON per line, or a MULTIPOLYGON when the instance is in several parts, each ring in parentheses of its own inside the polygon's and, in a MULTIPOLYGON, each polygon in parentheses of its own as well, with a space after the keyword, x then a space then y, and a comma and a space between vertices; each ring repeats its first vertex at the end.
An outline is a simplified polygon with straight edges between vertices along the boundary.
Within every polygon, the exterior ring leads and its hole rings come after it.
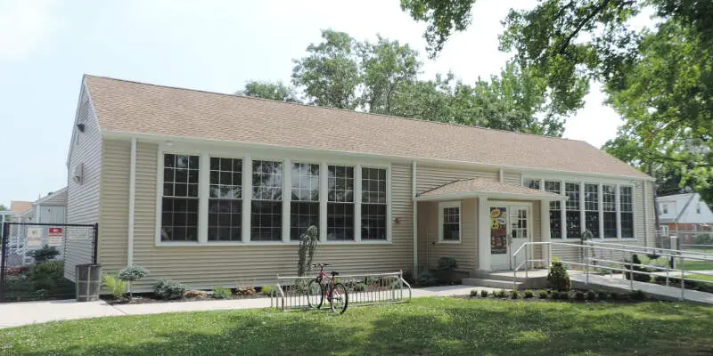
POLYGON ((283 239, 283 164, 252 161, 250 240, 283 239))

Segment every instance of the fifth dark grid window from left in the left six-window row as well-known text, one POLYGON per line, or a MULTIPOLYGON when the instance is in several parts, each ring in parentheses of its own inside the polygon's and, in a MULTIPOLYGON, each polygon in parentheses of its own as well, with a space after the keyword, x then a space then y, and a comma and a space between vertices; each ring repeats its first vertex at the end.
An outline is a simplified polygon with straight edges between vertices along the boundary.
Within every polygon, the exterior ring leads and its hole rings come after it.
POLYGON ((354 167, 327 166, 327 239, 354 239, 354 167))

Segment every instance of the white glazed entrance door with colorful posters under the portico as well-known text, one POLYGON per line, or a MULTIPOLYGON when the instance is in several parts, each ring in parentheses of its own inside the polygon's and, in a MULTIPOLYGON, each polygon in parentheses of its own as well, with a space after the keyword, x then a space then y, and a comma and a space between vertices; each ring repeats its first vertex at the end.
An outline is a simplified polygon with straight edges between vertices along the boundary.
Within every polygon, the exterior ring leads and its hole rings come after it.
POLYGON ((525 261, 525 252, 512 258, 529 241, 529 206, 490 206, 490 269, 513 270, 525 261))

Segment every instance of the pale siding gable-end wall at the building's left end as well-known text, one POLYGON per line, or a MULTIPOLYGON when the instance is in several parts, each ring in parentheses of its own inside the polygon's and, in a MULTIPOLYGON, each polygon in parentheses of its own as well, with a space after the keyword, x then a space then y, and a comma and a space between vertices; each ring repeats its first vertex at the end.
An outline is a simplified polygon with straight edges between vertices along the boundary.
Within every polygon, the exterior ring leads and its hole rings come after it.
MULTIPOLYGON (((67 223, 94 224, 99 222, 99 192, 102 170, 102 137, 94 117, 89 97, 82 91, 78 106, 78 123, 85 124, 85 132, 77 132, 68 165, 67 223), (76 182, 75 168, 84 164, 83 182, 76 182)), ((94 253, 93 234, 89 229, 68 229, 65 236, 64 276, 74 280, 75 266, 91 263, 94 253)))

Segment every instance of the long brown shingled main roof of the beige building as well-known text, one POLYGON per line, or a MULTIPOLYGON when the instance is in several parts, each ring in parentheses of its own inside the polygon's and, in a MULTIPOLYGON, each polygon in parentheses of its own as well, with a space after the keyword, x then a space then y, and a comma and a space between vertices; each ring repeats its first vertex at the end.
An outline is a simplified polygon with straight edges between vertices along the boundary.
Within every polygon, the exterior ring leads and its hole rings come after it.
POLYGON ((84 80, 104 132, 651 179, 582 141, 107 77, 84 80))

